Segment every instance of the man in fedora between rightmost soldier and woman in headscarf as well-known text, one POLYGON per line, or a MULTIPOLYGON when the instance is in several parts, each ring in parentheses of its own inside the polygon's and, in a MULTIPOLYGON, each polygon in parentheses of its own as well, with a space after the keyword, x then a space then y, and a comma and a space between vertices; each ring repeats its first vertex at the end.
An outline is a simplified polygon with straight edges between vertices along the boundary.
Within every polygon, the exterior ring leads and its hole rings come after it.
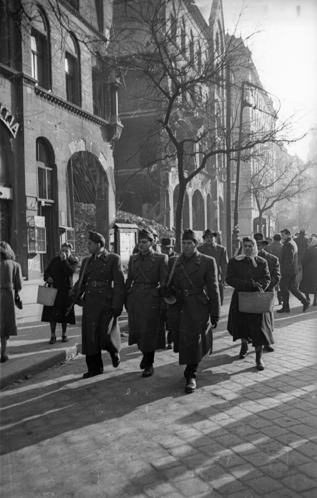
POLYGON ((197 250, 206 256, 214 257, 218 270, 218 284, 220 293, 221 306, 223 303, 223 285, 225 281, 225 276, 228 266, 228 256, 227 249, 224 246, 220 246, 216 243, 217 233, 211 232, 209 228, 206 230, 205 235, 203 235, 204 244, 199 246, 197 250))

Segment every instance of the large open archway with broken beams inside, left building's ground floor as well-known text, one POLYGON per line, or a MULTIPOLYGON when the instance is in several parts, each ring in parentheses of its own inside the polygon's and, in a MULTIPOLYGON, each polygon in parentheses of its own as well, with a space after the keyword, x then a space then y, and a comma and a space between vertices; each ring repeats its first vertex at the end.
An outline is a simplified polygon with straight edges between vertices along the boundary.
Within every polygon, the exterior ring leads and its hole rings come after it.
MULTIPOLYGON (((75 204, 90 204, 93 219, 85 220, 85 230, 95 229, 109 239, 109 183, 106 172, 97 157, 87 150, 75 152, 67 165, 67 221, 74 227, 75 204), (89 223, 92 221, 92 226, 89 223)), ((83 213, 81 214, 83 216, 83 213)), ((86 234, 84 234, 86 236, 86 234)))

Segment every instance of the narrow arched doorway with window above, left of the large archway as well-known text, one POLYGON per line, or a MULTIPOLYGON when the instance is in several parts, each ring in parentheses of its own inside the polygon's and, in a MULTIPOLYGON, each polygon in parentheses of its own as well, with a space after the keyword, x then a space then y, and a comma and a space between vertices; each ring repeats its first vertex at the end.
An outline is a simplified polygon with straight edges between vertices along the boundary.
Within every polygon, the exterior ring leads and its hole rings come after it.
POLYGON ((50 142, 44 137, 36 139, 37 214, 45 218, 46 252, 41 254, 42 271, 59 250, 58 194, 55 155, 50 142))

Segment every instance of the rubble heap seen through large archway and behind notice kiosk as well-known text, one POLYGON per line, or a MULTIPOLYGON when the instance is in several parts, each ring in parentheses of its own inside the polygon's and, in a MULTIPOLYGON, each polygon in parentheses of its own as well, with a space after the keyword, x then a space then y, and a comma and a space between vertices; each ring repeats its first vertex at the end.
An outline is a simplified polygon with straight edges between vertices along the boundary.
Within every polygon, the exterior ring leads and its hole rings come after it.
MULTIPOLYGON (((89 255, 87 249, 87 235, 90 230, 96 230, 96 206, 95 204, 84 204, 75 202, 75 255, 81 264, 84 257, 89 255)), ((116 223, 133 223, 140 229, 148 230, 155 229, 161 239, 164 237, 174 237, 174 230, 169 230, 164 225, 156 223, 154 220, 146 220, 140 216, 126 213, 125 211, 117 211, 115 217, 116 223)))

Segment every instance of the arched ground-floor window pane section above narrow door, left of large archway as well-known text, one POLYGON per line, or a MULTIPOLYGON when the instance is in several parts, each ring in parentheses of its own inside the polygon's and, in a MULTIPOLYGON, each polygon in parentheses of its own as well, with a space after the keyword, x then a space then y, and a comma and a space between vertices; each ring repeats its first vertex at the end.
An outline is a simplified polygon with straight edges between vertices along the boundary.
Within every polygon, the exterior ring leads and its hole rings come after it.
POLYGON ((54 201, 54 173, 50 167, 50 153, 40 138, 36 140, 37 162, 37 197, 43 200, 54 201))

